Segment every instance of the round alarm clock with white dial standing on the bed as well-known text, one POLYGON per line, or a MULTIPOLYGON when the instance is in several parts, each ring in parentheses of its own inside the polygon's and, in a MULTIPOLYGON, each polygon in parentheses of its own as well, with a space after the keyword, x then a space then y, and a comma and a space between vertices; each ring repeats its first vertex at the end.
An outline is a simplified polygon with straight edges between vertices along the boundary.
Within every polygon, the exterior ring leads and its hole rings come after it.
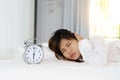
POLYGON ((27 64, 39 64, 43 57, 44 51, 42 45, 34 42, 29 42, 28 40, 25 44, 25 52, 23 54, 23 59, 27 64))

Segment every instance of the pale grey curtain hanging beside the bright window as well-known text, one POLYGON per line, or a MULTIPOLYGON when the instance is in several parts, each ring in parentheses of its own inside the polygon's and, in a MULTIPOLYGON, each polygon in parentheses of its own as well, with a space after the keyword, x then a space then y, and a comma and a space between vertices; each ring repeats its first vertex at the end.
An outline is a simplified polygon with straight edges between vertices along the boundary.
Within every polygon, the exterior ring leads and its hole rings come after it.
POLYGON ((63 28, 89 36, 89 0, 64 0, 63 28))

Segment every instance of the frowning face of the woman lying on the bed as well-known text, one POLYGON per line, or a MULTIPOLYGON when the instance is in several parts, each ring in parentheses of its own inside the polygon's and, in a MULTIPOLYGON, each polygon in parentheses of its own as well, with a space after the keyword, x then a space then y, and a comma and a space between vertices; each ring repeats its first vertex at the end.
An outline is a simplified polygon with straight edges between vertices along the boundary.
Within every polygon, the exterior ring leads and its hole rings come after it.
POLYGON ((67 59, 77 60, 80 57, 78 42, 75 39, 62 39, 59 47, 63 56, 67 59))

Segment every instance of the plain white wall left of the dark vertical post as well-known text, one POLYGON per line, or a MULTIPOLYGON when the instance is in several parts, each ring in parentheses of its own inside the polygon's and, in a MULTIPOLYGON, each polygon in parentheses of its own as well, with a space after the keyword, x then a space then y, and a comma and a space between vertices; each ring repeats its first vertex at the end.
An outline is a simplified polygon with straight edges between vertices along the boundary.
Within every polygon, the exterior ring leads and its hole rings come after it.
POLYGON ((33 27, 34 0, 0 0, 0 59, 17 54, 33 27))

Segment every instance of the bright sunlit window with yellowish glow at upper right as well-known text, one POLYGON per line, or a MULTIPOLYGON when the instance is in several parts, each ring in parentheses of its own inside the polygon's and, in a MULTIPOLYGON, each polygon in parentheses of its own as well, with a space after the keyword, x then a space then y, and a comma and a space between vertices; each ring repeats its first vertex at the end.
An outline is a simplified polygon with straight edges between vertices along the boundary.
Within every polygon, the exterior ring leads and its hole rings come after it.
POLYGON ((89 9, 89 36, 120 39, 119 0, 91 0, 89 9))

